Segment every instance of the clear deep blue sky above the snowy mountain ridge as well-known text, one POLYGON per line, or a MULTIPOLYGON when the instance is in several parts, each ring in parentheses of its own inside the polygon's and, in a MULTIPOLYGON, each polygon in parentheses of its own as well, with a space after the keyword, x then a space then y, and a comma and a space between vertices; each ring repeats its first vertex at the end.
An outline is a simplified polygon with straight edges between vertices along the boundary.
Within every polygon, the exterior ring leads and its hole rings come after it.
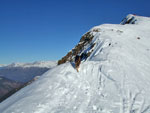
POLYGON ((0 64, 58 60, 91 27, 150 16, 150 0, 0 0, 0 64))

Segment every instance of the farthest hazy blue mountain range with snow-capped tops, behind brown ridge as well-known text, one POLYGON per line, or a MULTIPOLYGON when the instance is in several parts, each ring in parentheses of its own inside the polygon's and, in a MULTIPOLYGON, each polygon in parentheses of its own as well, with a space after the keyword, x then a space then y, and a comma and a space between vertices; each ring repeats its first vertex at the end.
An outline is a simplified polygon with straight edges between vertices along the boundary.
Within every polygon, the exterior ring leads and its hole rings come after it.
POLYGON ((56 61, 12 63, 0 68, 0 77, 26 83, 32 80, 35 76, 42 75, 44 72, 48 71, 56 65, 56 61))

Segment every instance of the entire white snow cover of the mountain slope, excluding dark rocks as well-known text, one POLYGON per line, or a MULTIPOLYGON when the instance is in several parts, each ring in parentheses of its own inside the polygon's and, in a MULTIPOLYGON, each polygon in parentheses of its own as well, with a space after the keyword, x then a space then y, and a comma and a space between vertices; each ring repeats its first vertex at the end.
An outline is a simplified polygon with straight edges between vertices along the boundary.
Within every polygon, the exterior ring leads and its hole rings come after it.
POLYGON ((95 46, 79 72, 71 63, 54 67, 0 112, 150 113, 150 18, 134 17, 137 24, 92 28, 95 46))

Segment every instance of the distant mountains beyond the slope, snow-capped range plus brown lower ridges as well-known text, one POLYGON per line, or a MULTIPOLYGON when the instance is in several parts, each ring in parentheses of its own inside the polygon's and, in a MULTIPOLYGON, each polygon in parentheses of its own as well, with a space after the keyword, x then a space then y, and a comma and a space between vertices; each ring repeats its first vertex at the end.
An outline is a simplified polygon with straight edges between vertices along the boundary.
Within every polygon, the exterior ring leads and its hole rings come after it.
POLYGON ((0 65, 0 102, 56 65, 56 61, 0 65))

